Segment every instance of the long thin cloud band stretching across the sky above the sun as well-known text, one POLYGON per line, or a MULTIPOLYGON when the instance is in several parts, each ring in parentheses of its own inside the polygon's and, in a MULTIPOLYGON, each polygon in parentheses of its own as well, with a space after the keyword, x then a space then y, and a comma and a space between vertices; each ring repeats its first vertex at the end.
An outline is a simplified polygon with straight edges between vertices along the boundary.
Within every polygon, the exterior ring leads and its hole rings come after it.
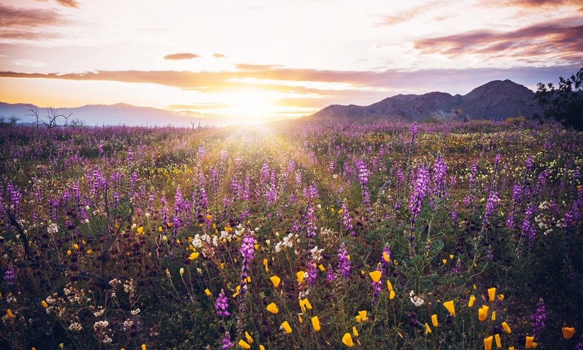
MULTIPOLYGON (((424 69, 405 71, 388 69, 384 71, 318 70, 269 68, 255 70, 234 70, 221 72, 189 72, 174 70, 97 70, 84 73, 23 73, 0 72, 0 77, 65 79, 88 81, 113 81, 126 83, 151 83, 196 90, 203 93, 220 93, 239 89, 273 90, 294 93, 308 98, 346 97, 366 99, 367 96, 388 94, 387 91, 447 91, 468 93, 479 84, 495 79, 511 79, 515 82, 534 86, 540 80, 556 80, 558 76, 570 76, 578 65, 517 68, 473 68, 473 69, 424 69), (243 81, 241 81, 243 80, 243 81), (268 80, 268 83, 257 82, 268 80), (329 84, 344 84, 342 90, 335 90, 329 84)), ((371 102, 374 102, 371 101, 371 102)))

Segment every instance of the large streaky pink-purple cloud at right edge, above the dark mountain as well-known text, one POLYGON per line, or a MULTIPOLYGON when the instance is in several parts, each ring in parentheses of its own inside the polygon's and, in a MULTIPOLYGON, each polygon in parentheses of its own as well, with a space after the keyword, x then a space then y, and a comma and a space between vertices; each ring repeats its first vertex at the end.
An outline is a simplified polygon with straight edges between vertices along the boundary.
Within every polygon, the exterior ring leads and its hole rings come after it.
POLYGON ((539 23, 514 31, 467 31, 461 34, 426 38, 414 42, 422 54, 452 58, 479 55, 483 59, 513 58, 531 62, 583 62, 583 19, 539 23))

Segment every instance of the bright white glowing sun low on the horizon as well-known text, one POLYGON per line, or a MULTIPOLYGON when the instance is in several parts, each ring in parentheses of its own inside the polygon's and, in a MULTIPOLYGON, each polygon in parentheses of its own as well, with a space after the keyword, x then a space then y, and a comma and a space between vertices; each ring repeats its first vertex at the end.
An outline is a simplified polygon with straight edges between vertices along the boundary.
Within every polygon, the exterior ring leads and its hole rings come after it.
POLYGON ((257 123, 276 112, 275 100, 269 91, 237 91, 228 97, 226 112, 241 123, 257 123))

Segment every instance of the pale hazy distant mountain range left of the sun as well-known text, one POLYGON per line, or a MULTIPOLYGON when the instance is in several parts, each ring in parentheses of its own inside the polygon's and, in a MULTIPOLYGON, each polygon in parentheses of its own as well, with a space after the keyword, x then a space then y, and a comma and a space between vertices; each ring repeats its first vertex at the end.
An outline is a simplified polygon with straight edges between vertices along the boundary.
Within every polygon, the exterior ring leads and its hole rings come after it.
MULTIPOLYGON (((34 105, 33 105, 34 106, 34 105)), ((38 109, 38 114, 41 117, 47 115, 47 109, 34 106, 38 109)), ((8 104, 0 102, 0 116, 10 118, 16 116, 19 118, 19 123, 34 122, 27 113, 29 109, 28 104, 8 104)), ((150 108, 150 107, 136 107, 134 105, 118 103, 114 105, 85 105, 76 108, 58 108, 59 114, 68 115, 69 123, 73 119, 83 121, 85 125, 101 126, 101 125, 168 125, 174 126, 192 126, 191 122, 198 125, 219 125, 214 119, 201 118, 209 115, 198 115, 194 112, 171 112, 165 109, 150 108)), ((64 119, 58 119, 58 124, 61 125, 64 119)))

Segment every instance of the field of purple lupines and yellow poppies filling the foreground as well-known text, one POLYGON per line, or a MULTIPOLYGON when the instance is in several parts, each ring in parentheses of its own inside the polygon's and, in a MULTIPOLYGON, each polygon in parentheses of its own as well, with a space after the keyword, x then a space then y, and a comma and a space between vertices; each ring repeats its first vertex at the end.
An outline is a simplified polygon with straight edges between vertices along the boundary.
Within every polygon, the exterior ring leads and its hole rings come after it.
POLYGON ((0 130, 0 349, 582 349, 583 134, 0 130))

